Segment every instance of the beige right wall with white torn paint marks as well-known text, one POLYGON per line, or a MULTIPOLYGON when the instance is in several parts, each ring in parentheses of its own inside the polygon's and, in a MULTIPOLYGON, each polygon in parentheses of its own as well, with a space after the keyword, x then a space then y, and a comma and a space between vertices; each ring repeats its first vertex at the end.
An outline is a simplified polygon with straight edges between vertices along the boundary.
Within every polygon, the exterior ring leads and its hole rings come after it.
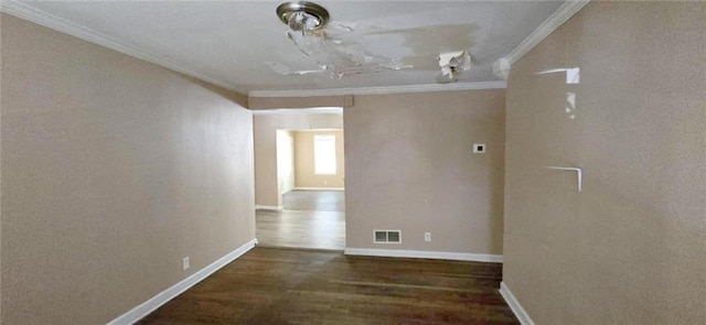
POLYGON ((591 2, 513 66, 503 281, 537 324, 706 319, 705 31, 704 2, 591 2))

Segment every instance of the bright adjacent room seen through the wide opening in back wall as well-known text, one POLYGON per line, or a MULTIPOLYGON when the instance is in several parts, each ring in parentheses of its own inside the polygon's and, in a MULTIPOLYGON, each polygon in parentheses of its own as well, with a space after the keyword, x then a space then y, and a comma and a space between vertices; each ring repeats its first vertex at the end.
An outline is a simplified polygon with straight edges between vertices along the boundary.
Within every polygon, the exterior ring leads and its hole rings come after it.
POLYGON ((259 153, 255 169, 267 170, 255 183, 255 235, 259 246, 345 249, 342 113, 342 108, 255 113, 255 151, 259 153), (292 122, 292 116, 303 123, 292 122), (315 123, 315 117, 328 123, 315 123), (277 185, 268 187, 266 183, 272 181, 277 185), (265 204, 268 202, 272 205, 265 204))

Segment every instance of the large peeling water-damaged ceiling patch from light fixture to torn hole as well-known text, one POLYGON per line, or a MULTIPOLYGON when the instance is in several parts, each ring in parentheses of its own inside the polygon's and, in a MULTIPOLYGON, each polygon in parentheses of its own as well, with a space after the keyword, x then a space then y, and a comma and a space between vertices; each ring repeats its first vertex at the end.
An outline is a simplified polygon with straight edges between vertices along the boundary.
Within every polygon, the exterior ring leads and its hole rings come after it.
POLYGON ((383 30, 331 22, 324 30, 311 31, 309 36, 288 32, 301 53, 314 59, 321 71, 296 71, 281 63, 266 65, 280 75, 308 75, 330 71, 335 79, 343 75, 378 73, 411 68, 439 71, 438 57, 442 53, 466 51, 471 54, 475 33, 474 23, 429 25, 414 29, 383 30), (298 36, 299 42, 292 36, 298 36), (396 55, 376 55, 367 51, 377 46, 393 46, 396 55))

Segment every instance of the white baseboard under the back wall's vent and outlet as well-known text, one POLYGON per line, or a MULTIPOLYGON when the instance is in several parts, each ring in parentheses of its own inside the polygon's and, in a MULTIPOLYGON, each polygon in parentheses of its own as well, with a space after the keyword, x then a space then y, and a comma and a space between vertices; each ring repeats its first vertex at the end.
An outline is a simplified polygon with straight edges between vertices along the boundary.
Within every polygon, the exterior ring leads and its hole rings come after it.
POLYGON ((343 253, 351 254, 351 256, 387 257, 387 258, 435 259, 435 260, 454 260, 454 261, 473 261, 473 262, 492 262, 492 263, 503 262, 503 256, 501 254, 447 252, 447 251, 346 248, 343 251, 343 253))

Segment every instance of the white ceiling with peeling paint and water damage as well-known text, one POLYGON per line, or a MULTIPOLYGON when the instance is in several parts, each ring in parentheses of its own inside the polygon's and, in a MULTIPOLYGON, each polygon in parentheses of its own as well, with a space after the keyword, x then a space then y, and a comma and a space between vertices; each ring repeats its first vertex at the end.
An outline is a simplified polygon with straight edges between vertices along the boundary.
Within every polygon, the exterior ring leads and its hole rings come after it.
MULTIPOLYGON (((318 1, 331 23, 372 55, 413 68, 350 75, 282 76, 267 63, 317 69, 287 37, 282 1, 32 1, 72 24, 176 63, 239 91, 395 87, 434 84, 442 52, 468 51, 459 83, 499 80, 492 63, 507 55, 561 1, 318 1)), ((330 23, 330 24, 331 24, 330 23)), ((341 31, 339 31, 341 33, 341 31)))

